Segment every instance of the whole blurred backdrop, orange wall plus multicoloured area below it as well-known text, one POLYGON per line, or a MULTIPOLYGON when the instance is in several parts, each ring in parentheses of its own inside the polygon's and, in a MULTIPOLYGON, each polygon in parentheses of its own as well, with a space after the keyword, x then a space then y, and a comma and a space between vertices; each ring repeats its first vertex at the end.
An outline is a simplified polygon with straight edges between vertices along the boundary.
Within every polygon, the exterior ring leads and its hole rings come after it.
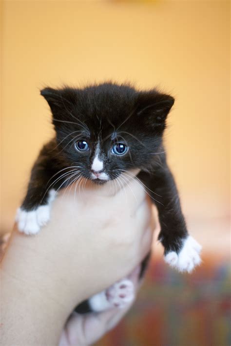
POLYGON ((165 142, 203 265, 178 274, 154 242, 135 307, 97 345, 230 345, 230 1, 3 0, 0 10, 1 234, 53 135, 40 88, 158 86, 176 98, 165 142))

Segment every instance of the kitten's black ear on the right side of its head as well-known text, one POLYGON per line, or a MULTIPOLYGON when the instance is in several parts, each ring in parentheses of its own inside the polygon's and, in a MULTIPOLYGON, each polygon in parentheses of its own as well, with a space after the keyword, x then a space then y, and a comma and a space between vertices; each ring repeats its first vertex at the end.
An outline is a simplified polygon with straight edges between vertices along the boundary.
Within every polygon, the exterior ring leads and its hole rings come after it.
POLYGON ((141 92, 138 95, 137 115, 145 117, 155 126, 164 125, 170 109, 173 107, 174 98, 161 94, 156 90, 141 92))

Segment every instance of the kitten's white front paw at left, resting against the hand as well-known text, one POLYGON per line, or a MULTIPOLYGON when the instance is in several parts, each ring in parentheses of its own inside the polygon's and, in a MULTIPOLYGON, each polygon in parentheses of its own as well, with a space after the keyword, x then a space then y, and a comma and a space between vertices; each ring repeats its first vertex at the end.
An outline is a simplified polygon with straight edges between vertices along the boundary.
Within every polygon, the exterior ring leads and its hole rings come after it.
POLYGON ((16 221, 19 231, 27 235, 37 234, 42 226, 47 224, 50 219, 50 205, 41 205, 39 208, 27 212, 18 209, 16 221))

